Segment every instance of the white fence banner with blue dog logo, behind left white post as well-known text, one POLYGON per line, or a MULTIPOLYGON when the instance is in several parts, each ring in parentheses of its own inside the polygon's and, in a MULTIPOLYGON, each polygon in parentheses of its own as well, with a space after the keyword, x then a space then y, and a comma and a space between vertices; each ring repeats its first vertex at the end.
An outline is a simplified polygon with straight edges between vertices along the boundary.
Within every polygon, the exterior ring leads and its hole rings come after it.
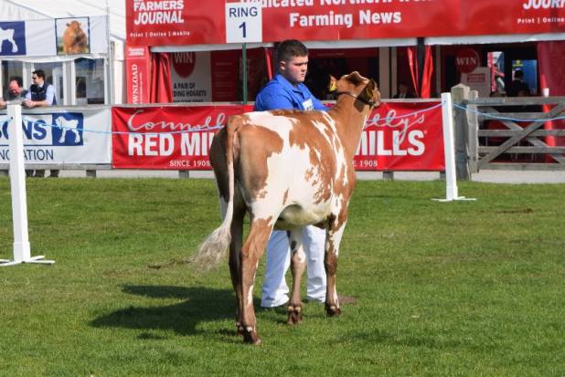
MULTIPOLYGON (((24 155, 29 163, 111 162, 111 110, 23 110, 24 155)), ((0 113, 0 164, 10 161, 10 127, 0 113)))

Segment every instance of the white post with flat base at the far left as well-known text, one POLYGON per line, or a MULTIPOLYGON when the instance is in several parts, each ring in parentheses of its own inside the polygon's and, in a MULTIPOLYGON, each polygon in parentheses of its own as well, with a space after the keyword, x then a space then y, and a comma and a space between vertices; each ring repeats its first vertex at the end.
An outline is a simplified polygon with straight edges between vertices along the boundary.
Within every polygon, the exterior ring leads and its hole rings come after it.
POLYGON ((14 260, 0 260, 0 266, 20 263, 53 264, 52 260, 41 260, 43 256, 31 257, 27 234, 26 170, 24 168, 24 135, 22 131, 22 107, 8 105, 8 137, 10 152, 10 187, 12 192, 12 221, 14 223, 14 260))

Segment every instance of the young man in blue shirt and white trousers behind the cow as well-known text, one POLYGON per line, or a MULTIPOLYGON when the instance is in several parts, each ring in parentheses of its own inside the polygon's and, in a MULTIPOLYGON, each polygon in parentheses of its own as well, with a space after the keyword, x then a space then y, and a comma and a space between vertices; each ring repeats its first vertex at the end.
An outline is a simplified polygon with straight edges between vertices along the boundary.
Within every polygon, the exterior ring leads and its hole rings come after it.
MULTIPOLYGON (((276 58, 279 74, 261 89, 255 99, 254 110, 327 110, 304 85, 308 68, 308 49, 304 44, 294 39, 285 40, 279 45, 276 58)), ((325 229, 305 226, 303 242, 307 258, 307 298, 324 302, 325 229)), ((291 251, 286 231, 274 230, 267 244, 261 307, 274 308, 288 301, 289 288, 284 275, 290 263, 291 251)))

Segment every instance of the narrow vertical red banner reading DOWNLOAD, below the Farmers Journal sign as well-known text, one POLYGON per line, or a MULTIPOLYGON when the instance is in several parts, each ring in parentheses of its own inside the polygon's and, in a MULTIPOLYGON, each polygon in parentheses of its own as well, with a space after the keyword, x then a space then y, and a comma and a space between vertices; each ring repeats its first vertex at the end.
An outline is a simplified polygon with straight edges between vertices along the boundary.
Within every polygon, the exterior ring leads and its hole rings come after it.
POLYGON ((125 47, 127 103, 149 103, 149 47, 125 47))

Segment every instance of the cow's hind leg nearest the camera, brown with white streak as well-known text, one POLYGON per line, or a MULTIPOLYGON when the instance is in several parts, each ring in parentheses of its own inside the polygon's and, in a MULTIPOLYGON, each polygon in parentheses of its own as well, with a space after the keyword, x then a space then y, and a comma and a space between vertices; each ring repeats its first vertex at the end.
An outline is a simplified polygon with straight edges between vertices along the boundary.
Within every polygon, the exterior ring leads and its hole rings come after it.
POLYGON ((255 309, 253 308, 253 283, 259 258, 263 254, 265 246, 267 246, 271 230, 270 220, 251 220, 250 234, 247 236, 240 254, 241 327, 243 328, 243 340, 253 344, 261 343, 257 333, 255 309))

